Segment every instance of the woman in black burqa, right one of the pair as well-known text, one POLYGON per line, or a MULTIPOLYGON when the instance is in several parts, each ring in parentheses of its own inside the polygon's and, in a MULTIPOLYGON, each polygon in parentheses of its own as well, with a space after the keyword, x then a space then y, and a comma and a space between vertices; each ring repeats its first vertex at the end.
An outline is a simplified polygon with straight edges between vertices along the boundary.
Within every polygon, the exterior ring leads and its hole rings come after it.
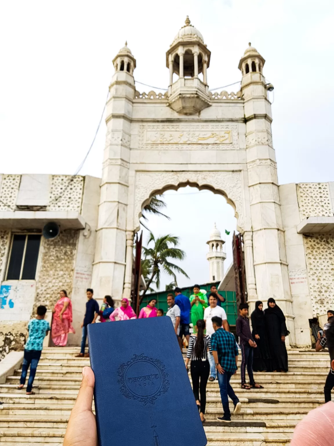
POLYGON ((268 308, 265 309, 265 326, 273 371, 287 372, 288 354, 285 348, 285 336, 288 336, 290 332, 286 328, 283 311, 272 297, 268 299, 268 308))

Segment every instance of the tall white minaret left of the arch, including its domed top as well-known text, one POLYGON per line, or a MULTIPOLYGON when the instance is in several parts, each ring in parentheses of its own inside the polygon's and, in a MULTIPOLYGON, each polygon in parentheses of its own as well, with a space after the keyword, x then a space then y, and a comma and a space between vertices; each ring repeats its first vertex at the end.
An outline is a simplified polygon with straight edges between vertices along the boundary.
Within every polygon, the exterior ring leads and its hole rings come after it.
MULTIPOLYGON (((130 120, 135 87, 136 60, 127 43, 113 59, 114 75, 106 105, 106 144, 102 164, 102 182, 98 227, 93 264, 94 295, 110 294, 118 305, 122 298, 126 256, 132 256, 133 233, 126 232, 127 195, 130 166, 130 120)), ((127 297, 130 297, 128 284, 127 297)))

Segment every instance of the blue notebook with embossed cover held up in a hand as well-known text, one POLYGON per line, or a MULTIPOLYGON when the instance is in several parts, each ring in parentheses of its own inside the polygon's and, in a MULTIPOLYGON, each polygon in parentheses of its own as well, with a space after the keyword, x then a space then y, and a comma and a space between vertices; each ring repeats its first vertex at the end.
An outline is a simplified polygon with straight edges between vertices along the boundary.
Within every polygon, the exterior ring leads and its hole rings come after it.
POLYGON ((100 446, 205 446, 170 318, 88 325, 100 446))

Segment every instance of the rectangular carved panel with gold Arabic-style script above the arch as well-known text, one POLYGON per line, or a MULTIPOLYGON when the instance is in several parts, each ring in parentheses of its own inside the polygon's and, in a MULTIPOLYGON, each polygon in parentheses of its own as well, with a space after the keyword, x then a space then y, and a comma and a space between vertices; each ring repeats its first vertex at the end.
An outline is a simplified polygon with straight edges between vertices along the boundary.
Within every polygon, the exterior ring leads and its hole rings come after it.
POLYGON ((237 125, 147 124, 138 131, 139 149, 239 149, 237 125))

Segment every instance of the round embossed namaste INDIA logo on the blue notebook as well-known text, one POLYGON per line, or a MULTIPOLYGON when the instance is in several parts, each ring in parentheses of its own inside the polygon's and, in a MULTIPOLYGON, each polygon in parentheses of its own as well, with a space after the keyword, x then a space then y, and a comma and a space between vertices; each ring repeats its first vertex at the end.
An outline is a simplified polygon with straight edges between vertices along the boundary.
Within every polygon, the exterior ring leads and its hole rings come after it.
POLYGON ((169 388, 165 365, 160 359, 149 358, 143 353, 122 364, 118 368, 118 376, 122 394, 142 402, 144 406, 154 404, 169 388))

